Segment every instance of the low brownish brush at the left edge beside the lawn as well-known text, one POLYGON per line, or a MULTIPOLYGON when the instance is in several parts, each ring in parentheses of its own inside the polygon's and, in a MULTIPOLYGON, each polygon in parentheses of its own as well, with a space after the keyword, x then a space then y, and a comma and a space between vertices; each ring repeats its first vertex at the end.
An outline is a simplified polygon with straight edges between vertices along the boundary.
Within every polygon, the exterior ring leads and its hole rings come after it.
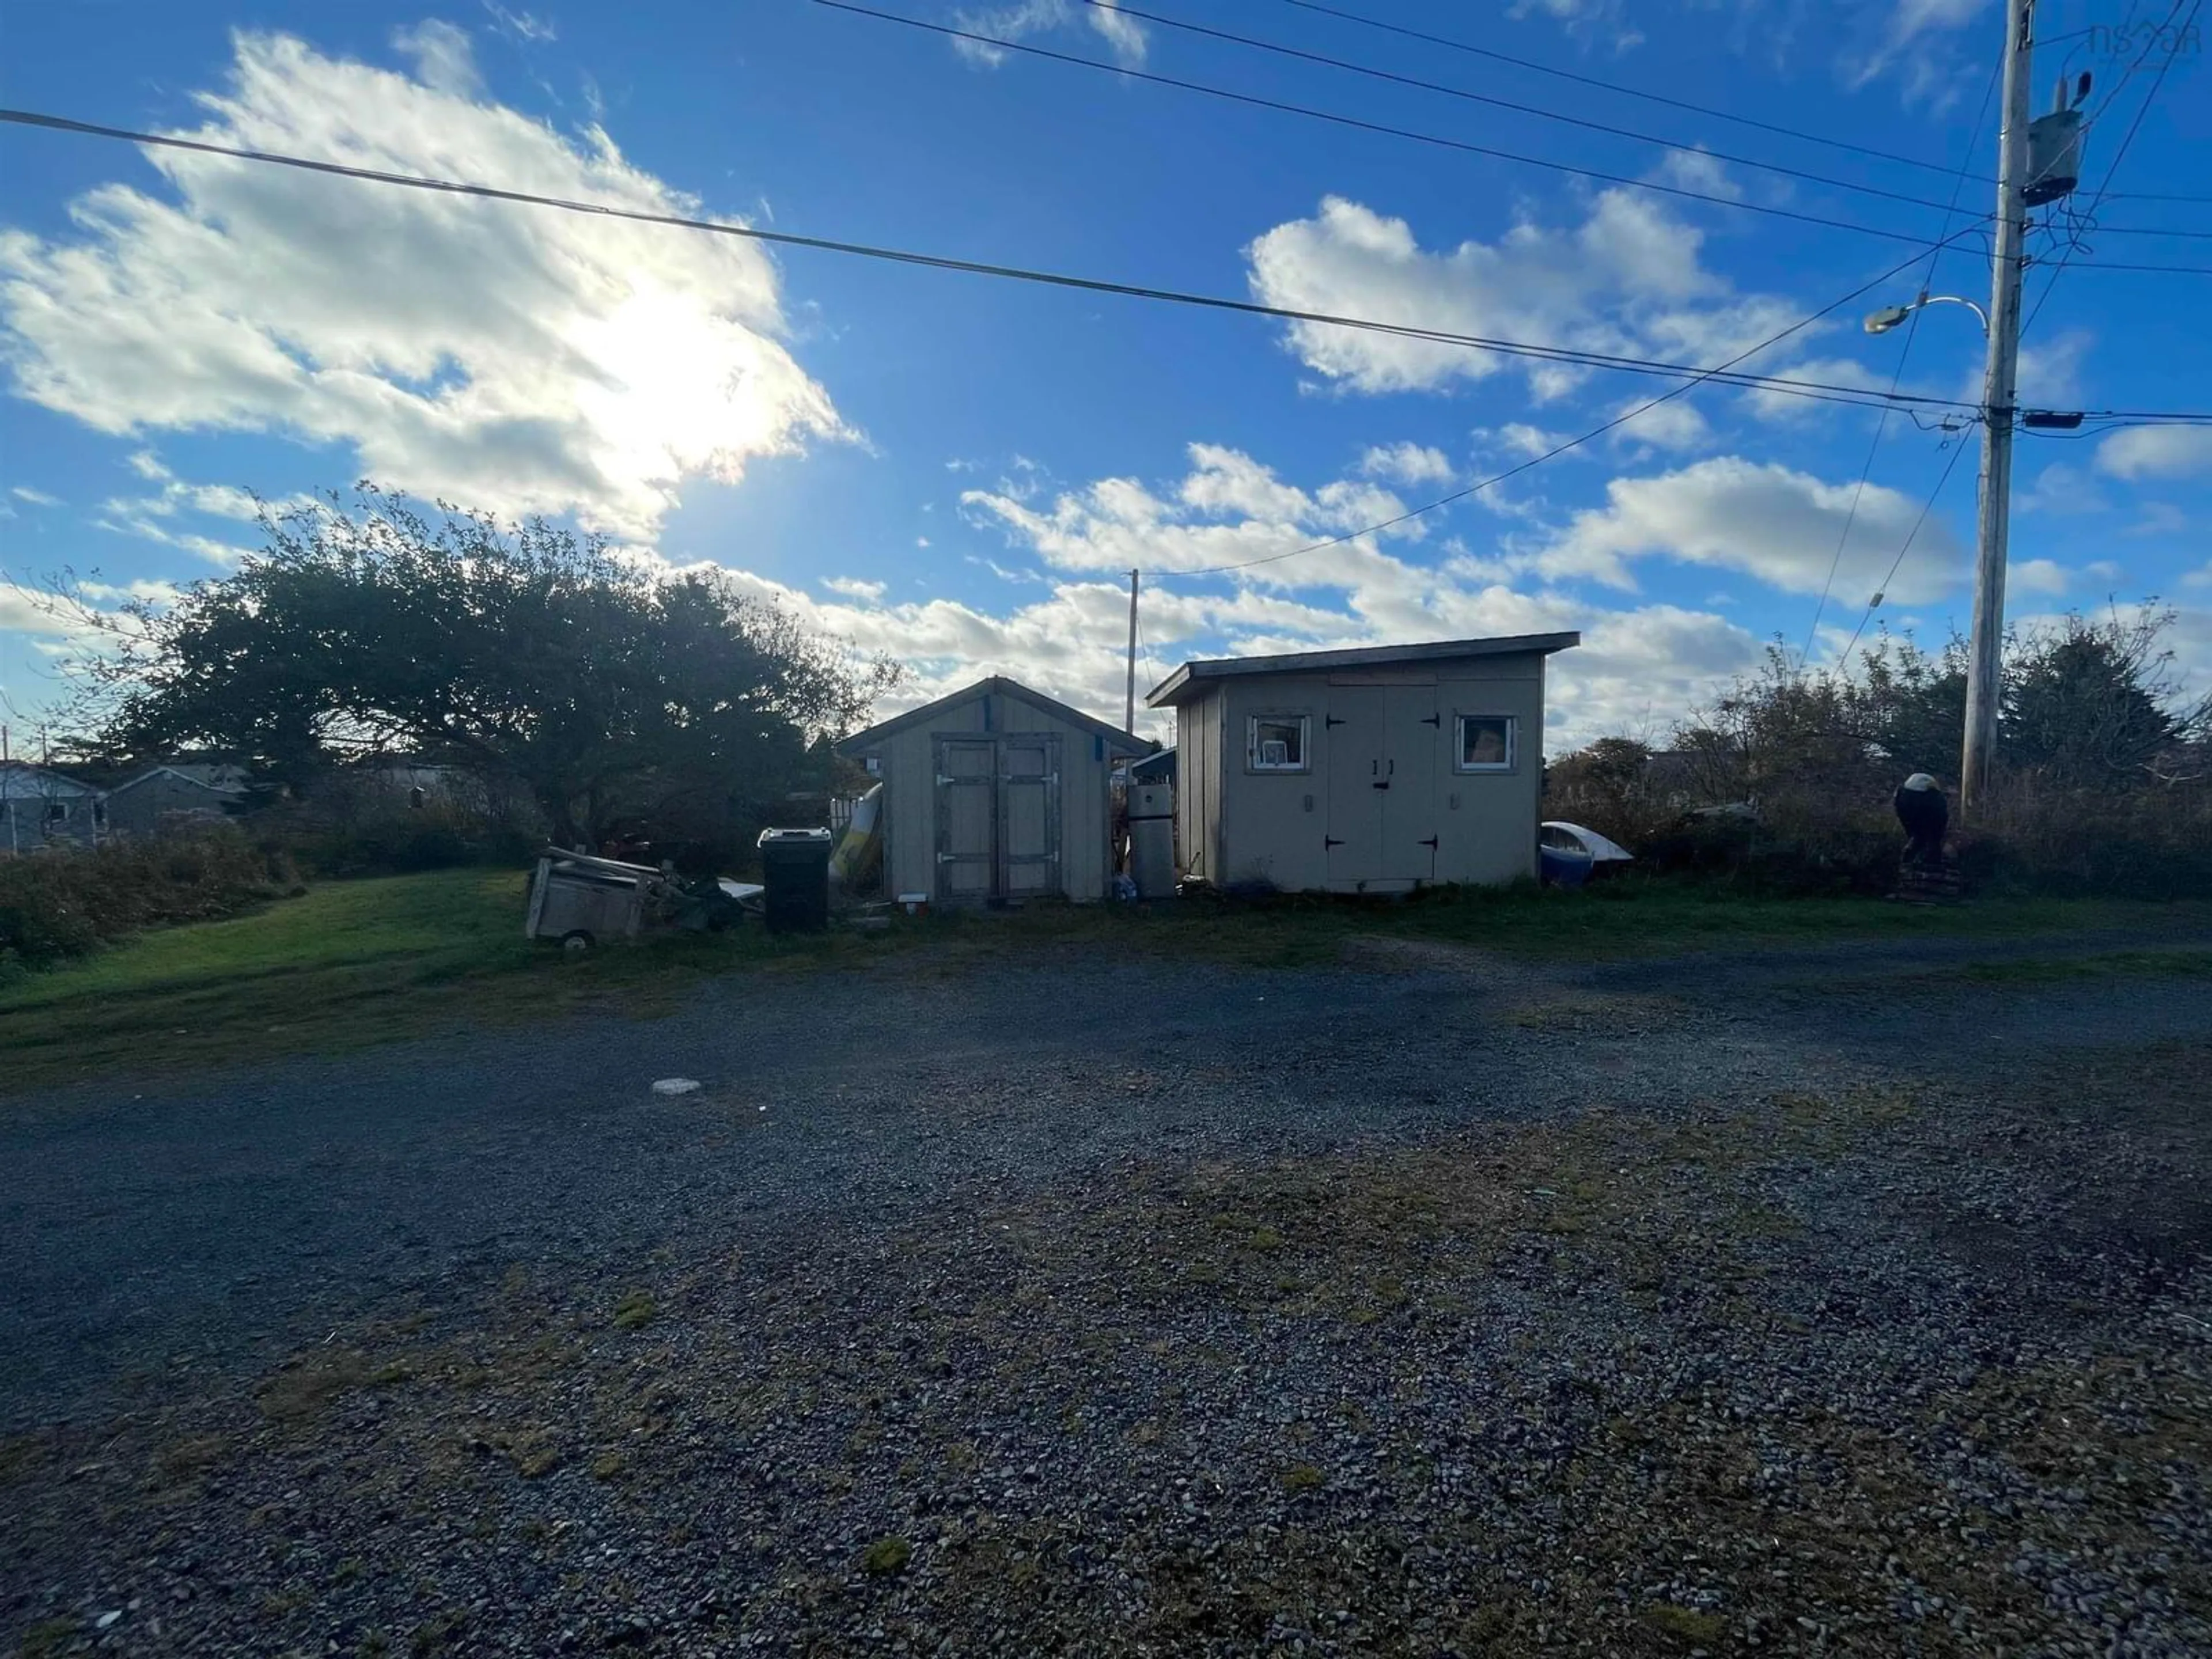
POLYGON ((234 916, 296 880, 283 852, 257 847, 237 825, 7 858, 0 973, 49 967, 146 927, 234 916))

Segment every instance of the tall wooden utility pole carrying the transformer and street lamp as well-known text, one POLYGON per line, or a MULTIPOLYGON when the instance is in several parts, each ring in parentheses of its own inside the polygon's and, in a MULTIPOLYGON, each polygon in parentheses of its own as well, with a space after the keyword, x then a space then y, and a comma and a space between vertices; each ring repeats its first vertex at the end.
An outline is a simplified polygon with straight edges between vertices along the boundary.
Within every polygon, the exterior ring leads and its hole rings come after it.
POLYGON ((1958 810, 1975 812, 1997 748, 2004 675, 2004 553, 2013 504, 2013 416, 2020 380, 2020 263, 2028 230, 2028 58, 2035 0, 2004 0, 2004 126, 1997 133, 1997 246, 1991 257, 1989 361, 1982 372, 1982 491, 1973 557, 1973 639, 1966 648, 1966 743, 1958 810))

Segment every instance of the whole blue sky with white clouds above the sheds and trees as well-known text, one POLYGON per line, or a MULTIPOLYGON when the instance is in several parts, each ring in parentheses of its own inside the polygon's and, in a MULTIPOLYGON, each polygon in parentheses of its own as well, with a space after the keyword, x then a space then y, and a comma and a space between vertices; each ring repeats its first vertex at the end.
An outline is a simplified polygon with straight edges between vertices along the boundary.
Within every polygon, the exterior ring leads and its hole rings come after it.
MULTIPOLYGON (((885 11, 1296 102, 1635 184, 1349 131, 993 53, 805 0, 533 9, 9 0, 0 95, 396 173, 741 219, 761 228, 1256 296, 1292 310, 1719 363, 1829 305, 1913 241, 1989 210, 2000 13, 1980 0, 1363 0, 1369 15, 1621 86, 1847 139, 1874 159, 1540 75, 1285 0, 1159 0, 1203 22, 1688 148, 1194 38, 1082 0, 885 11), (1692 150, 1708 150, 1697 155, 1692 150), (1741 157, 1714 159, 1710 153, 1741 157), (1966 159, 1962 215, 1944 219, 1966 159), (1750 166, 1823 175, 1792 179, 1750 166), (1849 190, 1869 186, 1931 206, 1849 190)), ((2188 7, 2183 7, 2188 11, 2188 7)), ((2150 7, 2141 20, 2163 18, 2150 7)), ((2112 0, 2042 7, 2037 108, 2099 82, 2086 197, 2152 88, 2112 0), (2117 88, 2117 93, 2115 93, 2117 88), (2106 108, 2106 97, 2112 95, 2106 108)), ((2212 97, 2179 38, 2075 257, 2026 334, 2028 403, 2212 407, 2212 97), (2117 228, 2197 237, 2119 234, 2117 228)), ((2053 239, 2042 250, 2059 252, 2053 239)), ((1936 292, 1986 301, 1986 259, 1936 292)), ((1907 334, 1858 316, 1887 281, 1745 367, 1887 387, 1907 334)), ((2031 303, 2042 290, 2031 274, 2031 303)), ((1781 633, 1832 657, 1951 460, 1942 431, 1701 387, 1520 478, 1360 531, 1666 389, 1458 345, 1119 296, 763 252, 681 230, 0 131, 0 564, 93 593, 219 575, 250 495, 369 473, 602 529, 637 557, 717 562, 914 668, 900 701, 1013 672, 1119 712, 1126 571, 1146 571, 1146 677, 1190 655, 1582 628, 1555 666, 1553 750, 1661 730, 1781 633), (1856 507, 1854 507, 1856 504, 1856 507), (1849 535, 1845 526, 1849 524, 1849 535)), ((1980 334, 1931 307, 1902 385, 1973 398, 1980 334)), ((1966 617, 1969 451, 1878 613, 1966 617)), ((2212 431, 2022 440, 2011 611, 2163 595, 2212 675, 2212 431)), ((0 588, 18 723, 71 641, 0 588)))

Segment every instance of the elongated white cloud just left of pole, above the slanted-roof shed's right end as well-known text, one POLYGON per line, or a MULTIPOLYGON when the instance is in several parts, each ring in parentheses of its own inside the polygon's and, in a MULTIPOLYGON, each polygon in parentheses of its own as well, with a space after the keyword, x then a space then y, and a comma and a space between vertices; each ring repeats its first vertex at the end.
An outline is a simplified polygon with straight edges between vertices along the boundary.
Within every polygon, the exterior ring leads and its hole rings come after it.
MULTIPOLYGON (((1531 568, 1548 577, 1590 577, 1632 588, 1630 562, 1670 557, 1743 571, 1785 593, 1818 593, 1836 568, 1836 591, 1871 593, 1905 544, 1920 502, 1885 484, 1867 484, 1851 513, 1849 482, 1741 456, 1714 456, 1657 478, 1615 478, 1606 504, 1568 522, 1531 568), (1840 562, 1836 544, 1849 522, 1840 562)), ((1889 584, 1893 599, 1933 597, 1964 568, 1964 549, 1949 524, 1929 518, 1911 555, 1889 584)))

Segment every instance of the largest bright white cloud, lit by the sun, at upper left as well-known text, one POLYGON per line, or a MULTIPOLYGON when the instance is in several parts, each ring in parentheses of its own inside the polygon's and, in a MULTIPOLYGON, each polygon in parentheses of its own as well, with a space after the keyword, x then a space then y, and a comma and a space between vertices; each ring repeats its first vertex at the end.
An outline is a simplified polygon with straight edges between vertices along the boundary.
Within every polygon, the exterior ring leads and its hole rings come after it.
MULTIPOLYGON (((219 144, 491 177, 657 212, 699 204, 588 128, 241 33, 219 144)), ((418 53, 420 58, 420 53, 418 53)), ((22 396, 102 431, 250 429, 502 513, 644 538, 686 478, 849 436, 781 343, 774 265, 728 237, 453 201, 186 153, 73 239, 0 232, 0 352, 22 396)))

